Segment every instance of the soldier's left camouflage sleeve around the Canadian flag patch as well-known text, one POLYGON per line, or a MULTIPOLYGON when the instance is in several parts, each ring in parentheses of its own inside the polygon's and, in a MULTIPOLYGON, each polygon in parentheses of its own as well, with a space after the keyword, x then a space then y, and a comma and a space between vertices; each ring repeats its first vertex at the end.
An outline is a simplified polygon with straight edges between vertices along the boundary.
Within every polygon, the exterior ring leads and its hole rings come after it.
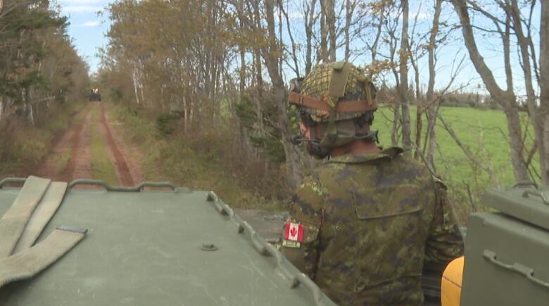
POLYGON ((282 254, 301 272, 313 279, 317 269, 320 227, 322 225, 323 191, 320 184, 312 177, 305 178, 304 183, 294 195, 288 222, 303 227, 300 243, 285 238, 285 224, 282 229, 282 254))

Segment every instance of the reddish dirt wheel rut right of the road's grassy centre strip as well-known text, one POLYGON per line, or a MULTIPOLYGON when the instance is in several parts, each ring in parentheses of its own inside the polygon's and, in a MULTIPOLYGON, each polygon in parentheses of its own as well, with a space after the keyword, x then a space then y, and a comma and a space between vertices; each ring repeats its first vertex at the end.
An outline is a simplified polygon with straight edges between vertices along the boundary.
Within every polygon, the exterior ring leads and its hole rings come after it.
POLYGON ((111 127, 107 121, 105 106, 103 106, 103 102, 99 102, 99 107, 101 108, 100 121, 103 129, 103 135, 106 141, 107 151, 110 151, 109 153, 111 154, 109 155, 114 158, 114 160, 111 159, 111 162, 113 161, 115 164, 115 172, 116 176, 118 177, 118 183, 121 186, 134 186, 134 180, 132 178, 132 174, 130 173, 130 168, 127 166, 124 155, 122 155, 122 153, 120 152, 120 149, 116 145, 116 141, 113 138, 113 134, 111 133, 111 127))

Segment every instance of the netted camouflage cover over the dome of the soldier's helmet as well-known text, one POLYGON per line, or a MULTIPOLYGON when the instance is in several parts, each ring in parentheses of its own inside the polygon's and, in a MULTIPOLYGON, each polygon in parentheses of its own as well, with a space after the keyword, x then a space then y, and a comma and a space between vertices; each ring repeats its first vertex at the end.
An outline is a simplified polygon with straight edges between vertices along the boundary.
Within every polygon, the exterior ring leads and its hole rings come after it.
MULTIPOLYGON (((324 101, 330 108, 334 108, 340 101, 353 101, 355 103, 360 101, 370 106, 367 110, 355 112, 339 111, 336 108, 334 112, 336 121, 360 117, 366 111, 377 108, 375 102, 376 89, 370 78, 366 76, 364 70, 346 62, 325 63, 315 66, 313 71, 303 79, 301 86, 298 87, 298 93, 301 96, 324 101), (335 91, 339 89, 339 93, 334 93, 334 88, 335 91)), ((301 111, 309 113, 315 122, 328 122, 330 120, 330 113, 332 112, 327 109, 313 108, 306 106, 306 104, 299 105, 300 103, 294 104, 298 105, 301 111)))

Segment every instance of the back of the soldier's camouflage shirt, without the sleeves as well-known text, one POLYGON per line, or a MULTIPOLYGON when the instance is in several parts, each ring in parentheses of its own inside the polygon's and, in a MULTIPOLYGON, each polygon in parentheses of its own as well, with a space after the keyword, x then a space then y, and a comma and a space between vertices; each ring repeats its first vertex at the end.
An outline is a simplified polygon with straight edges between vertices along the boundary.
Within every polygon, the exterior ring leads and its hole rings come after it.
POLYGON ((341 305, 419 305, 424 248, 436 201, 427 168, 389 148, 332 158, 315 282, 341 305))

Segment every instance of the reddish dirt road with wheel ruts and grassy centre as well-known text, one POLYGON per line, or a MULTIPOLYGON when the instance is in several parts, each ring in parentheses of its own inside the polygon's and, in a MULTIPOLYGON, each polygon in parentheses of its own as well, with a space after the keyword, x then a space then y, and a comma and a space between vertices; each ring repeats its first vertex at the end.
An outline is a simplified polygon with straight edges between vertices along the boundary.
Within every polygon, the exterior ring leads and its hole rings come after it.
POLYGON ((143 179, 143 175, 139 169, 139 163, 130 155, 134 148, 125 147, 119 136, 120 132, 113 129, 113 126, 115 124, 111 122, 103 103, 90 102, 81 113, 72 118, 70 127, 53 146, 53 150, 44 160, 43 166, 37 170, 36 175, 60 181, 74 179, 108 181, 101 175, 106 171, 99 169, 97 165, 110 165, 116 177, 115 182, 110 181, 111 184, 115 183, 119 186, 138 184, 143 179), (92 150, 92 138, 98 136, 99 141, 95 141, 96 148, 92 150))

